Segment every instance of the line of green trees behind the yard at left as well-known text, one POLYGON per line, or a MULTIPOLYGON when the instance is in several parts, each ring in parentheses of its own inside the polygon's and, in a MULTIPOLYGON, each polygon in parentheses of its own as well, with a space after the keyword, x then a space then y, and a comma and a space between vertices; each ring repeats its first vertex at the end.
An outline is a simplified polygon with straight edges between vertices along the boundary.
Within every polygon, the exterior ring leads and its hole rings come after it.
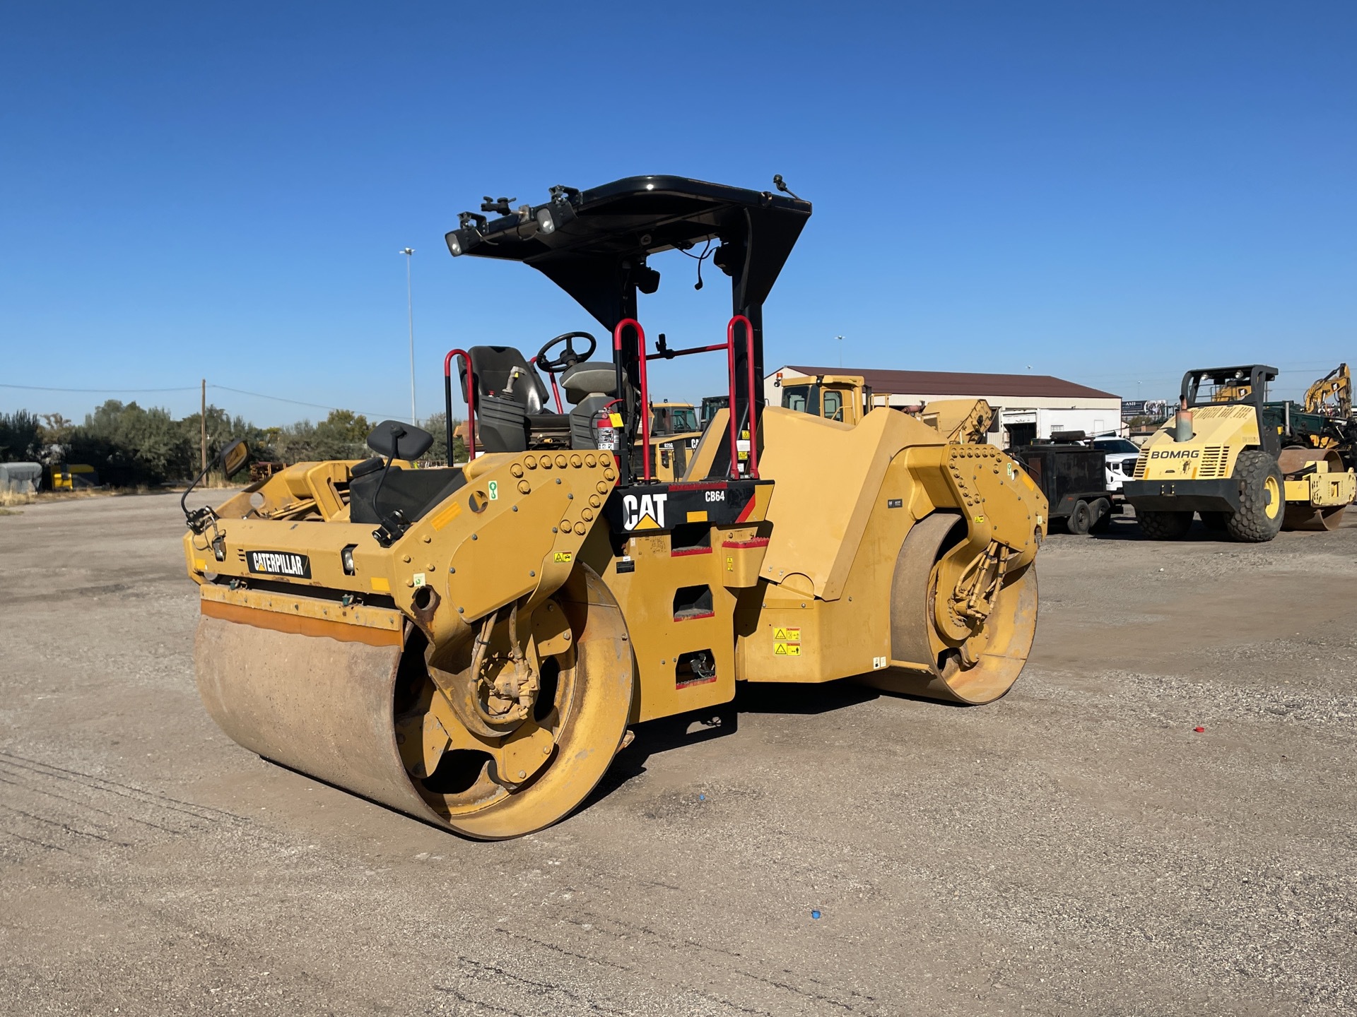
MULTIPOLYGON (((117 399, 85 414, 84 423, 79 424, 60 414, 18 410, 0 414, 0 462, 90 465, 99 472, 100 483, 114 487, 186 481, 201 468, 202 419, 202 414, 191 414, 176 420, 168 410, 142 408, 117 399)), ((299 420, 284 427, 256 427, 242 416, 209 405, 206 424, 209 458, 236 439, 250 445, 255 460, 288 465, 362 460, 372 454, 365 441, 373 424, 349 410, 332 410, 316 423, 299 420)), ((444 415, 434 414, 421 422, 421 427, 434 437, 426 460, 446 464, 444 415)), ((461 462, 467 450, 460 437, 455 442, 453 452, 461 462)))

